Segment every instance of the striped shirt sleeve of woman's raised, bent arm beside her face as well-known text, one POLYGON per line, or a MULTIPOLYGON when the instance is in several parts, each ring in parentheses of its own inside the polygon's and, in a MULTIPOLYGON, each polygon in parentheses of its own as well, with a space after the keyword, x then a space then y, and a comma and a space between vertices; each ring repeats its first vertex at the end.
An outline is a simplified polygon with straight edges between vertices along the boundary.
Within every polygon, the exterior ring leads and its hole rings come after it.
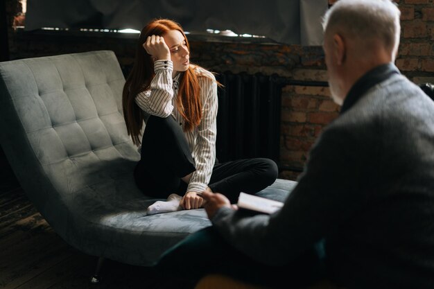
POLYGON ((150 89, 137 94, 137 105, 147 114, 168 117, 173 111, 173 62, 156 60, 154 62, 155 77, 150 82, 150 89))

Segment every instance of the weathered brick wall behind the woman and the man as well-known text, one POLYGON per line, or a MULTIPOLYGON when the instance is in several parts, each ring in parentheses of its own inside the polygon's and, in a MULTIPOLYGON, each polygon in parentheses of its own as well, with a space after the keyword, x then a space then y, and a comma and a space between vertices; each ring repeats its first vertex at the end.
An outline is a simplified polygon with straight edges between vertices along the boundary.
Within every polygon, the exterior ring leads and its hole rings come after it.
MULTIPOLYGON (((336 1, 329 1, 334 3, 336 1)), ((433 0, 400 0, 401 46, 397 66, 415 82, 434 82, 433 0)), ((17 0, 6 0, 8 20, 17 12, 17 0)), ((116 53, 125 73, 134 59, 132 37, 96 35, 46 35, 15 33, 10 28, 13 59, 108 49, 116 53)), ((339 107, 327 87, 324 54, 320 46, 279 45, 242 42, 208 42, 189 37, 191 60, 215 72, 265 73, 298 85, 284 87, 281 98, 280 177, 295 179, 302 170, 312 143, 321 130, 338 116, 339 107)))

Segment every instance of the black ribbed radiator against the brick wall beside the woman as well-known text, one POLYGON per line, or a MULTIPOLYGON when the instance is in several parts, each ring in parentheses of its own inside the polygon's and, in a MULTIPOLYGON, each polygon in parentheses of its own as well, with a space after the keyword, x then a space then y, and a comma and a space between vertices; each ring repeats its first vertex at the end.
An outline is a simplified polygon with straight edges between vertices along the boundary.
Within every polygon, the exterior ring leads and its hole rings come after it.
POLYGON ((277 76, 221 73, 216 155, 220 162, 267 157, 279 164, 281 87, 277 76))

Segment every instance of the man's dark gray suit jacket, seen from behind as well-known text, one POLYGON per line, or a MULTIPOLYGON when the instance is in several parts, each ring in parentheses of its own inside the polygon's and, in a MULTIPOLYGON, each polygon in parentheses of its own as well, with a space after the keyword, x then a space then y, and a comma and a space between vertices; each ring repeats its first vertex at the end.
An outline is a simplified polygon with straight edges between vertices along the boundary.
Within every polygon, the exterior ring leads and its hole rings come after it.
POLYGON ((263 263, 288 263, 324 238, 339 285, 434 288, 433 100, 388 76, 324 129, 281 211, 222 208, 212 222, 263 263))

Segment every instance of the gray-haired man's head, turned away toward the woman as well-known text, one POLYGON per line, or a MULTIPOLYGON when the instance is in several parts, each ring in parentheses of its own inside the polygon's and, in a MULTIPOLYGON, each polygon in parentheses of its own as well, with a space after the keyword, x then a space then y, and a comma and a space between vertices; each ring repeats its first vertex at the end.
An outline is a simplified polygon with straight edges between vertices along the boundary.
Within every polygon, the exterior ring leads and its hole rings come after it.
POLYGON ((324 52, 333 100, 342 105, 354 82, 394 62, 401 12, 390 0, 339 0, 324 16, 324 52))

